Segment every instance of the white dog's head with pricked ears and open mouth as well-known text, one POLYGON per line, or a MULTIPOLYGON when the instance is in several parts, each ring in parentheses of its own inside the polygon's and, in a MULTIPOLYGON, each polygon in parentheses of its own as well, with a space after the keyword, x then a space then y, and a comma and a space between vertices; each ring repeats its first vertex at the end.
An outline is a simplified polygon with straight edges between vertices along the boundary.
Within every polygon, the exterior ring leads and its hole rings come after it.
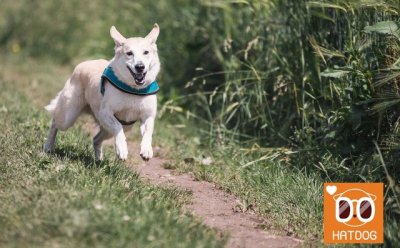
POLYGON ((143 88, 156 79, 160 70, 156 45, 159 33, 160 28, 154 24, 144 38, 125 38, 114 26, 111 27, 115 57, 110 65, 120 80, 135 88, 143 88))

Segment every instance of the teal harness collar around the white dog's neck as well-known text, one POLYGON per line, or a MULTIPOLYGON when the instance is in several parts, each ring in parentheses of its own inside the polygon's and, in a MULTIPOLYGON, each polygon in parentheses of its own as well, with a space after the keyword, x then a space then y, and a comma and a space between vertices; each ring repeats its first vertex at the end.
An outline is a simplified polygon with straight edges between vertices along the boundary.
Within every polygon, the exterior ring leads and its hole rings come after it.
POLYGON ((133 94, 133 95, 140 95, 140 96, 154 95, 160 90, 160 87, 158 86, 157 81, 153 81, 146 88, 135 89, 135 88, 127 85, 126 83, 122 82, 121 80, 119 80, 117 78, 117 76, 115 75, 111 66, 107 66, 106 69, 104 69, 103 75, 101 75, 100 92, 102 95, 104 95, 104 92, 106 91, 106 88, 105 88, 106 80, 109 81, 115 88, 117 88, 125 93, 133 94))

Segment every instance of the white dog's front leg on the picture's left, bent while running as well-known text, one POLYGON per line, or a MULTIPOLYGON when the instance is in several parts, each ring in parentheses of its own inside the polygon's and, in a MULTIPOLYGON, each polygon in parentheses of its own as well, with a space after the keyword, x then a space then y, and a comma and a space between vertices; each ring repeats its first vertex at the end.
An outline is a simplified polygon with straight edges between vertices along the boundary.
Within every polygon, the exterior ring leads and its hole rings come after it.
POLYGON ((121 123, 119 123, 113 112, 108 108, 100 110, 98 119, 100 125, 115 137, 115 150, 118 158, 126 160, 128 158, 128 145, 126 144, 126 137, 121 123))

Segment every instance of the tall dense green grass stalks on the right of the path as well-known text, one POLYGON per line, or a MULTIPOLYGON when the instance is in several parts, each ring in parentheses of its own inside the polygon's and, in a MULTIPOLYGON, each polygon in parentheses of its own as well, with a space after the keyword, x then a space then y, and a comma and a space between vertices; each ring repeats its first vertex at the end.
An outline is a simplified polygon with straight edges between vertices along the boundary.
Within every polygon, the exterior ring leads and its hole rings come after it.
POLYGON ((209 139, 287 147, 287 165, 326 181, 383 181, 386 223, 398 226, 398 1, 206 3, 224 77, 204 63, 212 73, 189 82, 187 111, 207 120, 209 139))

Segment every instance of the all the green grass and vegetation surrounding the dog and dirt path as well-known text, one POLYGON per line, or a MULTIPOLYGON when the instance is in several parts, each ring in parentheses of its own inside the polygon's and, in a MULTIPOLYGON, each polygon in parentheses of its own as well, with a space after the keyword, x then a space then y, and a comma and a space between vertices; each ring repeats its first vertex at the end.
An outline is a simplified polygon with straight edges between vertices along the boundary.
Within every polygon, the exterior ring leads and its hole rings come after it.
POLYGON ((42 107, 74 65, 112 57, 111 25, 143 36, 155 22, 165 167, 312 245, 324 182, 384 182, 385 246, 398 246, 399 13, 398 0, 3 1, 0 246, 224 244, 180 210, 187 193, 146 185, 111 150, 94 165, 79 125, 56 156, 40 151, 42 107))

